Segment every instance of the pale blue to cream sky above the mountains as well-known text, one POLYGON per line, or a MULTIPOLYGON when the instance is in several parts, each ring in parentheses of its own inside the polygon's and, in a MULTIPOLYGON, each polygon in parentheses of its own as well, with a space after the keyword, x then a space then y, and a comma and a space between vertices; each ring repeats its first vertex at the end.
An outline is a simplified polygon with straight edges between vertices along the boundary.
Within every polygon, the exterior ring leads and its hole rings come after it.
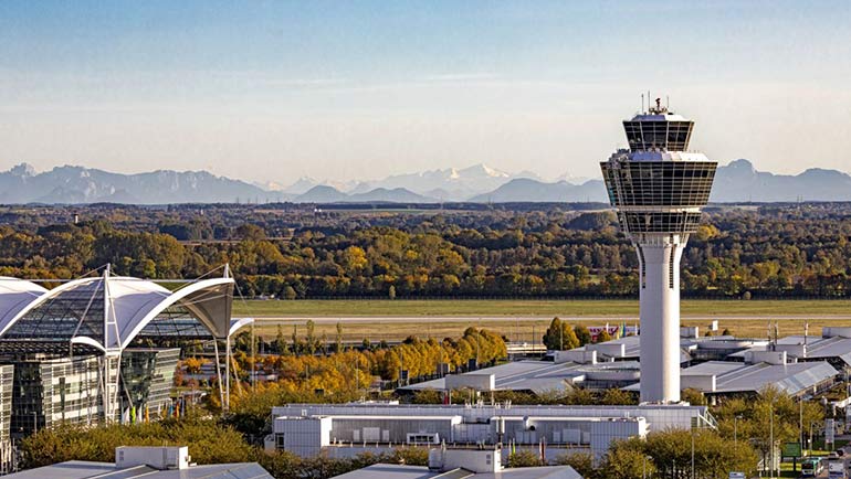
POLYGON ((650 91, 721 163, 848 172, 850 79, 848 1, 6 1, 0 169, 598 177, 650 91))

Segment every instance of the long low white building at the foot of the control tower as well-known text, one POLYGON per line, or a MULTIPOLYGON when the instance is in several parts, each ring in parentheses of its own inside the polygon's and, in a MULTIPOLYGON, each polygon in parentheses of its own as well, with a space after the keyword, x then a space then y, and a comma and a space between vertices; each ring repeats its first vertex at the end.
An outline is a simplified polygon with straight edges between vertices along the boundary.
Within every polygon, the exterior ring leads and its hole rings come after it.
POLYGON ((477 447, 512 444, 535 449, 547 444, 553 459, 568 451, 601 457, 614 439, 644 437, 692 421, 714 427, 704 406, 515 406, 292 404, 274 407, 269 447, 301 456, 351 457, 399 446, 477 447))

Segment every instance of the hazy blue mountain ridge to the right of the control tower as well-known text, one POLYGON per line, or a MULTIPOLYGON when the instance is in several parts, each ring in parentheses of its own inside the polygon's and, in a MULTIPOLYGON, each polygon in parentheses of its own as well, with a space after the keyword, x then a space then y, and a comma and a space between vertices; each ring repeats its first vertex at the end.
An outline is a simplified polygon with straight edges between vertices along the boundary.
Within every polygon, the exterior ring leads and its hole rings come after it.
POLYGON ((851 201, 851 175, 812 168, 800 174, 757 171, 748 160, 718 168, 712 188, 714 202, 851 201))

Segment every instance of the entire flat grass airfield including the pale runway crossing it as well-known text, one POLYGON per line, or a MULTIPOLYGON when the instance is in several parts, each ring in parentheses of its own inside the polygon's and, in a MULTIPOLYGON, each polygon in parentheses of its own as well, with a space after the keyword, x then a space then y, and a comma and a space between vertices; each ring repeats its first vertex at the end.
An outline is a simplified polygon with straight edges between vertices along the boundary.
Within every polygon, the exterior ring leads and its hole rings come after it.
MULTIPOLYGON (((690 300, 682 304, 683 326, 698 326, 705 331, 707 318, 718 319, 721 330, 729 329, 738 337, 766 338, 770 318, 779 318, 780 336, 803 333, 809 322, 810 334, 819 334, 824 326, 851 326, 851 301, 845 300, 690 300), (693 318, 689 318, 692 316, 693 318), (700 319, 694 318, 700 317, 700 319), (750 317, 750 318, 747 318, 750 317), (784 318, 786 317, 786 318, 784 318)), ((287 338, 293 324, 304 333, 307 319, 316 319, 317 334, 329 341, 336 336, 335 318, 405 317, 392 322, 345 322, 344 338, 360 341, 368 338, 400 340, 458 337, 475 326, 498 331, 512 341, 540 341, 554 316, 570 318, 571 323, 599 326, 610 321, 629 324, 638 316, 637 300, 300 300, 238 301, 234 316, 252 316, 259 321, 256 333, 273 336, 277 326, 285 327, 287 338), (516 319, 513 319, 515 317, 516 319), (608 319, 607 319, 608 318, 608 319)))

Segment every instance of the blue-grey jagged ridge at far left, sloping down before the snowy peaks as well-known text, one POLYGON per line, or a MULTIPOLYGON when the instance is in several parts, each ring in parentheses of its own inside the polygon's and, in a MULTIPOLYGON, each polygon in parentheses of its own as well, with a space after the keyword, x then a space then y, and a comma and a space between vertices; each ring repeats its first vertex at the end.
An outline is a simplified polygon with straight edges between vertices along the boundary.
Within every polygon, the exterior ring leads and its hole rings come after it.
POLYGON ((122 174, 65 166, 36 173, 21 163, 0 172, 0 203, 231 203, 238 199, 276 201, 281 195, 207 171, 122 174))

